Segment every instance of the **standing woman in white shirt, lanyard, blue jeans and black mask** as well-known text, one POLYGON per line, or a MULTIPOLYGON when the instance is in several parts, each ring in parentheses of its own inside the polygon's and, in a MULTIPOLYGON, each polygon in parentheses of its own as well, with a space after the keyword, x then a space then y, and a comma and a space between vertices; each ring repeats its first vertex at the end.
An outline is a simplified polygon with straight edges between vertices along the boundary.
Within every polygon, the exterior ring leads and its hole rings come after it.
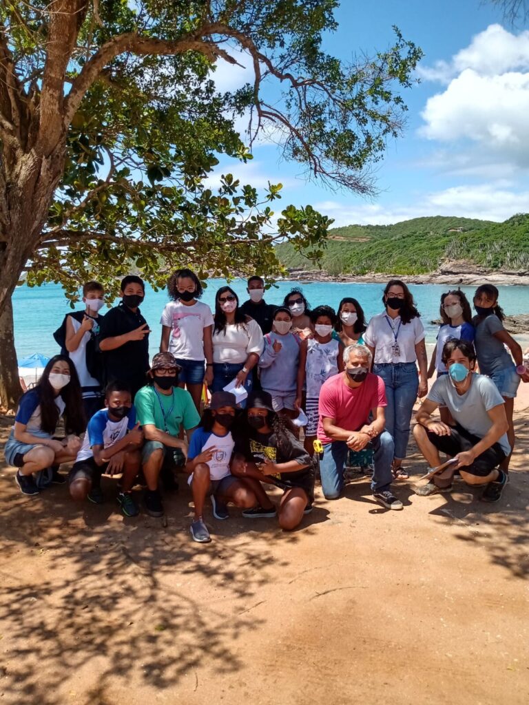
POLYGON ((382 302, 385 311, 372 317, 364 340, 373 356, 373 372, 386 385, 386 430, 395 442, 394 476, 408 479, 401 465, 406 458, 413 405, 417 396, 426 396, 428 391, 425 329, 403 281, 391 279, 382 302))

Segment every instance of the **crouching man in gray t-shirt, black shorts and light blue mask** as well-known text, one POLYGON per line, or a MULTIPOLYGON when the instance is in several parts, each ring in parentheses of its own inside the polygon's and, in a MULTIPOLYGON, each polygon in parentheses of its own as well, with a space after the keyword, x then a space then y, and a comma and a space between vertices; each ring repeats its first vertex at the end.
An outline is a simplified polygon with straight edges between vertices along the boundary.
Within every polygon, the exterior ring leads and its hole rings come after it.
POLYGON ((475 352, 470 343, 448 341, 442 360, 448 374, 435 381, 418 410, 413 436, 432 470, 442 464, 439 451, 456 462, 434 474, 416 494, 449 491, 458 470, 467 484, 487 485, 482 501, 497 502, 506 484, 506 474, 498 466, 511 452, 504 400, 491 379, 475 374, 475 352), (439 406, 448 408, 454 425, 432 417, 439 406))

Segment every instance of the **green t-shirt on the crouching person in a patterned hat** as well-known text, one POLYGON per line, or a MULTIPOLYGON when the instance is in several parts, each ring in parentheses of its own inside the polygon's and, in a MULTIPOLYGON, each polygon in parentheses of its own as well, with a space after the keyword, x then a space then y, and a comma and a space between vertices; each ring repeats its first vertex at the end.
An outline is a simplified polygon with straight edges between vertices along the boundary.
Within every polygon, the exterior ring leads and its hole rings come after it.
POLYGON ((181 387, 173 387, 173 393, 169 395, 157 393, 154 386, 147 385, 136 394, 134 405, 136 419, 142 426, 154 424, 159 431, 167 429, 171 436, 178 436, 181 426, 187 431, 200 422, 190 393, 181 387))

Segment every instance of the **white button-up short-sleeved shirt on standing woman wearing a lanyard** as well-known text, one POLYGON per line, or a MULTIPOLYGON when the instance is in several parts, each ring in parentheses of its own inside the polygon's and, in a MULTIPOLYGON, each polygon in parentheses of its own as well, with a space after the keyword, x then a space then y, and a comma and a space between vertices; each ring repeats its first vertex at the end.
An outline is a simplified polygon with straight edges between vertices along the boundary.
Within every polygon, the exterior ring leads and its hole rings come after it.
POLYGON ((373 316, 364 333, 366 345, 375 348, 375 364, 416 362, 415 345, 425 338, 425 329, 418 316, 409 323, 401 323, 401 317, 391 319, 388 314, 373 316), (400 355, 394 355, 395 336, 400 355))

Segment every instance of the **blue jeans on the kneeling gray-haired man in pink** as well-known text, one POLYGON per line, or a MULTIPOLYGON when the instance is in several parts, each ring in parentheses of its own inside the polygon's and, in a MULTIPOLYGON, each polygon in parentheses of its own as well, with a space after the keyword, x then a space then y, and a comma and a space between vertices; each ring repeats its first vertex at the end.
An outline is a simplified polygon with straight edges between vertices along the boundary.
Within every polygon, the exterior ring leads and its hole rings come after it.
MULTIPOLYGON (((387 431, 367 444, 375 451, 373 458, 373 477, 371 489, 381 492, 389 489, 393 474, 391 461, 393 460, 394 443, 387 431)), ((343 468, 346 465, 348 447, 345 441, 333 441, 323 446, 323 458, 320 460, 320 476, 322 491, 325 499, 338 499, 343 488, 343 468)))

